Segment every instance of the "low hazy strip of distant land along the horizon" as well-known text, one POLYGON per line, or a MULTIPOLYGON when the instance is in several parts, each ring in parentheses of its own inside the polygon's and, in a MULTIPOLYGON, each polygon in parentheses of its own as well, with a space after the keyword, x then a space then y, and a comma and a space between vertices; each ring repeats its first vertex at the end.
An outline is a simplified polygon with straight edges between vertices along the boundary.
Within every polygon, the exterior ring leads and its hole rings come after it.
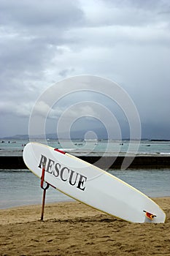
MULTIPOLYGON (((0 138, 0 140, 29 140, 30 136, 29 135, 14 135, 14 136, 7 136, 7 137, 3 137, 0 138)), ((43 139, 44 135, 35 135, 32 136, 31 139, 43 139)), ((58 140, 58 137, 55 133, 48 133, 46 135, 46 139, 50 139, 50 140, 58 140)), ((60 138, 61 139, 61 138, 60 138)), ((63 138, 67 139, 67 138, 63 138)), ((79 136, 77 137, 76 134, 72 136, 73 140, 84 140, 84 136, 79 136)), ((99 137, 98 140, 107 140, 107 138, 101 138, 99 137)), ((115 138, 113 138, 112 140, 116 140, 115 138)), ((122 138, 122 140, 130 140, 129 138, 122 138)), ((170 140, 163 140, 163 139, 149 139, 149 138, 142 138, 141 140, 148 140, 148 141, 170 141, 170 140)))

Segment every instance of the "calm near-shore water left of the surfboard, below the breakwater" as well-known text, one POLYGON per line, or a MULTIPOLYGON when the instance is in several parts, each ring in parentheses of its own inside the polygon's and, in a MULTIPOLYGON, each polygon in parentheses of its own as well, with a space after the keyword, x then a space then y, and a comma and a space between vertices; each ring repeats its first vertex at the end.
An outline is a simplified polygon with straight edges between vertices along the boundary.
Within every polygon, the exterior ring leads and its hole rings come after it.
MULTIPOLYGON (((29 170, 0 170, 0 208, 26 206, 42 203, 40 179, 29 170)), ((66 197, 53 187, 47 189, 48 203, 68 201, 66 197)))

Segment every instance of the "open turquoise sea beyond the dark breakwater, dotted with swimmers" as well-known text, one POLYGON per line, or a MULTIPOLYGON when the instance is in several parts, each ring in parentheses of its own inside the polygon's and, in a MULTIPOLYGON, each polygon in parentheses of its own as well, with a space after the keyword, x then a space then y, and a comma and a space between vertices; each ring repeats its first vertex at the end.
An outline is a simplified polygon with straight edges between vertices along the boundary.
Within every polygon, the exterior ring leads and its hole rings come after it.
MULTIPOLYGON (((129 149, 129 141, 117 140, 35 140, 39 143, 47 143, 48 146, 60 148, 75 156, 98 155, 106 154, 125 155, 128 154, 144 154, 144 155, 169 155, 170 156, 170 141, 150 141, 142 140, 139 144, 139 149, 136 152, 136 141, 131 142, 129 149)), ((24 146, 29 140, 1 140, 0 141, 0 156, 11 155, 21 156, 24 146)))

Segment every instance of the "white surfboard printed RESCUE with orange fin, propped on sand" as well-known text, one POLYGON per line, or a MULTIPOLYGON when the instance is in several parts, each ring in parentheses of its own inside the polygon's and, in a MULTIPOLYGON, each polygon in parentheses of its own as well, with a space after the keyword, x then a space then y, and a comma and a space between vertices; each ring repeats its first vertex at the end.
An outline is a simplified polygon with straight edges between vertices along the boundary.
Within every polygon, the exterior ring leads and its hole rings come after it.
POLYGON ((68 153, 28 143, 23 160, 39 178, 44 164, 48 184, 99 211, 129 222, 165 222, 163 210, 142 192, 68 153))

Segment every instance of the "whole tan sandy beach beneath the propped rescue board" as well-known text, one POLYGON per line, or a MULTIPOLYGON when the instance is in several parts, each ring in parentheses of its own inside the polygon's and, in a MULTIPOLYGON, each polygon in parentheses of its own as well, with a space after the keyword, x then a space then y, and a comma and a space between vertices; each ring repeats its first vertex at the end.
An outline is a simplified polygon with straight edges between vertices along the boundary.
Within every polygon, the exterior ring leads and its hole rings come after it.
POLYGON ((170 198, 154 199, 165 224, 134 224, 81 203, 0 210, 0 255, 170 255, 170 198))

